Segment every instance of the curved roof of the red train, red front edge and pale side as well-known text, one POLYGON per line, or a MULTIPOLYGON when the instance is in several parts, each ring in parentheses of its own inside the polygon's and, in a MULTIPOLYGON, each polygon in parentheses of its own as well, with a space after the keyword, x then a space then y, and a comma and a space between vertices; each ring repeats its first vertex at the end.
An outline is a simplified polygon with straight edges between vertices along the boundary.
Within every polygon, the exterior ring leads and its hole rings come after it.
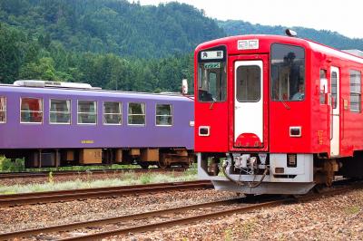
MULTIPOLYGON (((281 35, 268 35, 268 34, 247 34, 247 35, 236 35, 230 37, 224 37, 216 40, 212 40, 209 42, 201 43, 197 46, 196 51, 200 51, 201 49, 210 48, 211 46, 216 46, 217 44, 226 44, 230 45, 231 52, 237 52, 237 43, 239 40, 249 40, 249 39, 258 39, 260 41, 266 43, 287 43, 287 44, 295 44, 304 46, 306 48, 311 49, 312 51, 326 53, 330 56, 347 59, 349 61, 353 61, 356 63, 363 63, 363 57, 357 52, 346 52, 335 49, 328 45, 324 45, 322 43, 317 43, 309 39, 302 39, 299 37, 290 37, 290 36, 281 36, 281 35)), ((239 50, 240 52, 240 50, 239 50)))

